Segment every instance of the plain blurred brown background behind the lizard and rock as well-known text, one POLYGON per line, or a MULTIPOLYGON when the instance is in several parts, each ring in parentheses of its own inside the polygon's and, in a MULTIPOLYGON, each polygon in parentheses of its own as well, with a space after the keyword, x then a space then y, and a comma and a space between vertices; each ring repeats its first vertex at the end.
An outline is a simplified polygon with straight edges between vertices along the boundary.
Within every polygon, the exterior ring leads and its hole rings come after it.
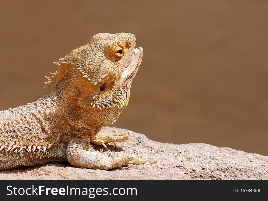
POLYGON ((0 110, 51 92, 52 63, 101 32, 144 49, 114 124, 268 155, 267 1, 1 1, 0 110))

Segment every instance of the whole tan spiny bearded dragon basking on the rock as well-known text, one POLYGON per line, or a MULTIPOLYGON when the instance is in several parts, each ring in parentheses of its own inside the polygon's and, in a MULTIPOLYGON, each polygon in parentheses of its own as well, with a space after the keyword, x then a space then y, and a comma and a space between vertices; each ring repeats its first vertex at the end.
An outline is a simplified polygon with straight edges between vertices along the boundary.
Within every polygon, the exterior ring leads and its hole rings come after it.
MULTIPOLYGON (((0 112, 0 170, 50 161, 80 168, 113 169, 147 160, 111 158, 89 151, 90 143, 124 142, 130 132, 98 133, 113 124, 129 101, 130 87, 143 50, 135 35, 96 34, 87 45, 60 59, 39 100, 0 112)), ((106 147, 107 148, 107 147, 106 147)))

